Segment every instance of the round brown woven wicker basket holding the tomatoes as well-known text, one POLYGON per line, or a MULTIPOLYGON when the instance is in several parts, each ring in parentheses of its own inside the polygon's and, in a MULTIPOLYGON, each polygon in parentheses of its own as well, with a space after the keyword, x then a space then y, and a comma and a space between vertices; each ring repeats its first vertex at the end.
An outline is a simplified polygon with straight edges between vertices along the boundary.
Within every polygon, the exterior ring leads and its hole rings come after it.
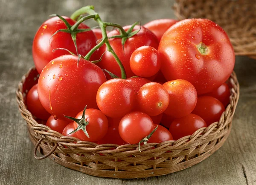
POLYGON ((230 104, 219 122, 197 130, 191 136, 177 141, 160 144, 98 145, 63 136, 49 127, 38 124, 26 109, 24 97, 37 83, 35 68, 22 77, 17 89, 17 103, 23 119, 27 122, 29 136, 35 145, 36 159, 49 157, 64 167, 93 176, 112 178, 143 178, 159 176, 189 168, 206 159, 221 147, 230 134, 233 115, 239 99, 239 83, 235 72, 229 79, 231 87, 230 104), (38 157, 39 150, 44 156, 38 157))

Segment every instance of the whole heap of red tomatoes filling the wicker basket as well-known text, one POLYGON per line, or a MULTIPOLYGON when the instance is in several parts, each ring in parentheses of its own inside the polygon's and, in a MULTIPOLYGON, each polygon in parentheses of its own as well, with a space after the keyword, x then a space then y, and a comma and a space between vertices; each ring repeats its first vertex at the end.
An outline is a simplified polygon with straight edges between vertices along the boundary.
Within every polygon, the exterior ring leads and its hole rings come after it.
MULTIPOLYGON (((218 121, 229 104, 225 81, 233 71, 234 51, 224 30, 210 20, 154 20, 135 26, 139 32, 123 46, 122 38, 113 38, 119 30, 109 32, 127 79, 103 72, 121 76, 106 45, 92 55, 102 56, 97 65, 65 50, 52 52, 65 48, 84 56, 102 39, 100 29, 79 32, 76 51, 69 32, 53 35, 66 26, 53 17, 38 29, 33 58, 40 77, 26 99, 36 118, 48 119, 46 125, 64 136, 116 145, 177 140, 218 121)), ((79 28, 89 27, 81 23, 79 28)))

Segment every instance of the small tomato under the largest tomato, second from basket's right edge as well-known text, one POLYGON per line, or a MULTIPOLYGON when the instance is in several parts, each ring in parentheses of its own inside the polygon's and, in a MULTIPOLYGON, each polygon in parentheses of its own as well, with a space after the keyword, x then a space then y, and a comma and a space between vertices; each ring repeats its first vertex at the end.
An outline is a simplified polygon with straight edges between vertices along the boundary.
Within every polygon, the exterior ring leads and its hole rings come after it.
POLYGON ((225 111, 223 104, 218 99, 211 96, 201 96, 198 98, 193 114, 200 116, 206 124, 219 121, 221 114, 225 111))

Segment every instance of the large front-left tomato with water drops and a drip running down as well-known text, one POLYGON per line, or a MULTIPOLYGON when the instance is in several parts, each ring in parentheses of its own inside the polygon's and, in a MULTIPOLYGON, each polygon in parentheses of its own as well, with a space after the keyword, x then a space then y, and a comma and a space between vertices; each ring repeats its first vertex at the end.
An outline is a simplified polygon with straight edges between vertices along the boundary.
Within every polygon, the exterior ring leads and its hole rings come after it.
POLYGON ((75 117, 87 108, 97 108, 96 93, 106 81, 102 69, 73 55, 63 55, 50 61, 38 80, 38 96, 43 107, 58 119, 75 117))

